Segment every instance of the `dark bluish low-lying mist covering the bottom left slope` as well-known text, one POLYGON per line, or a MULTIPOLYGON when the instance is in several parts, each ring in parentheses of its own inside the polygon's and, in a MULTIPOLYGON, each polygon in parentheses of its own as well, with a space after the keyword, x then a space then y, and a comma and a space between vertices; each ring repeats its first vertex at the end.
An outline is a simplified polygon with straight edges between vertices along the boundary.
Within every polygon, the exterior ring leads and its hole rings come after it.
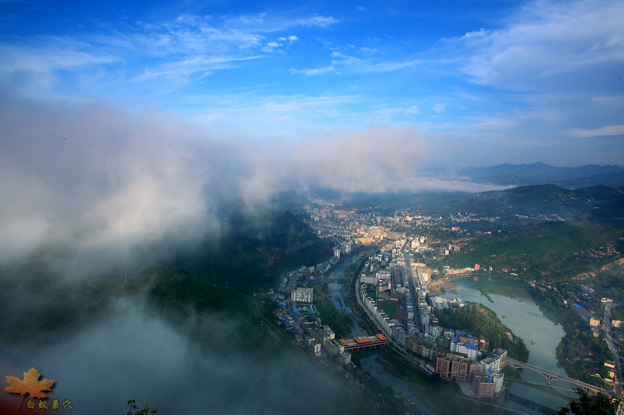
POLYGON ((132 396, 161 413, 313 413, 345 401, 331 374, 292 351, 250 351, 240 327, 228 315, 203 314, 173 328, 121 298, 79 333, 3 344, 2 370, 21 377, 35 366, 56 380, 49 401, 70 399, 76 413, 125 413, 132 396))

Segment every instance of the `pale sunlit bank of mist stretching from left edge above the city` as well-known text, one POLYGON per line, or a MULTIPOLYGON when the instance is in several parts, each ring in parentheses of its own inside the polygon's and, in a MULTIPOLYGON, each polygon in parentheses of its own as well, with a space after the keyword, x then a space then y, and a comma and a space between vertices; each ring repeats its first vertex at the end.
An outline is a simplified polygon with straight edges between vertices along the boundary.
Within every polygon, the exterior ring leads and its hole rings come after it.
POLYGON ((124 257, 147 242, 217 236, 221 204, 256 211, 288 189, 485 188, 420 176, 427 137, 411 130, 370 127, 296 143, 234 140, 155 110, 130 114, 102 102, 7 94, 0 123, 0 260, 50 245, 124 257))

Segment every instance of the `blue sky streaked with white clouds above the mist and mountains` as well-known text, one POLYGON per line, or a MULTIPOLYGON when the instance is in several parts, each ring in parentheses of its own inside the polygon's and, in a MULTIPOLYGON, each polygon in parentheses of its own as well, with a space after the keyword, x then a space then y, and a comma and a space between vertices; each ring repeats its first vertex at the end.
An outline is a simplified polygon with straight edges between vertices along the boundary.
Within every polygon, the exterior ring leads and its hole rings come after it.
MULTIPOLYGON (((624 3, 0 2, 3 93, 227 140, 365 128, 430 164, 624 164, 624 3)), ((380 143, 383 145, 383 143, 380 143)))

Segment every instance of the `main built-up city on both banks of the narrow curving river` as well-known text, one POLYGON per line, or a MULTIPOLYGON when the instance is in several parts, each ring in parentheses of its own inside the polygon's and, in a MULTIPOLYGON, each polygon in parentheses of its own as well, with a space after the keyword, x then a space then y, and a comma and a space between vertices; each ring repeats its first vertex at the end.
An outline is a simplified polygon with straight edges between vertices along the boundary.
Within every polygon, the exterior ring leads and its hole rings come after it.
MULTIPOLYGON (((314 354, 321 355, 325 351, 337 356, 346 365, 351 361, 351 351, 391 341, 405 353, 424 359, 431 373, 472 383, 475 394, 481 398, 499 393, 503 387, 501 370, 505 366, 507 352, 490 352, 484 336, 437 325, 436 309, 461 308, 464 302, 457 298, 431 295, 427 289, 431 270, 425 264, 412 260, 414 254, 431 257, 458 252, 466 247, 466 242, 462 239, 454 242, 429 241, 427 236, 407 236, 405 232, 406 229, 419 227, 460 232, 455 223, 482 219, 461 212, 447 219, 422 216, 411 211, 396 211, 391 216, 376 212, 360 214, 356 210, 340 209, 326 201, 317 200, 314 203, 316 206, 303 208, 310 217, 306 222, 319 237, 333 242, 334 258, 313 267, 300 267, 285 279, 280 291, 286 293, 286 301, 290 300, 290 305, 280 302, 276 315, 286 327, 300 330, 303 343, 314 354), (381 333, 336 339, 333 330, 321 323, 316 312, 314 289, 297 287, 297 282, 308 281, 306 285, 321 282, 321 274, 330 269, 341 255, 371 245, 378 246, 379 251, 365 260, 358 274, 356 297, 381 333)), ((474 270, 479 270, 479 264, 469 269, 444 269, 448 274, 474 270)), ((280 295, 280 299, 283 296, 280 295)))

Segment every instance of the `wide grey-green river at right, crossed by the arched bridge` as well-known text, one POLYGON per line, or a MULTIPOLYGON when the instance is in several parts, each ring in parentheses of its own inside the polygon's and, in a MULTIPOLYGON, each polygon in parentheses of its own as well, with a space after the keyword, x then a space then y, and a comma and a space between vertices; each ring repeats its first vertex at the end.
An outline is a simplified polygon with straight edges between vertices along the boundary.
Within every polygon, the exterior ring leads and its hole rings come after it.
MULTIPOLYGON (((454 282, 459 287, 459 293, 447 292, 442 297, 459 297, 464 301, 480 302, 491 308, 514 332, 514 335, 524 340, 529 348, 528 363, 530 365, 565 374, 565 370, 558 367, 557 356, 555 356, 555 348, 565 335, 563 328, 540 311, 537 303, 524 289, 523 282, 502 277, 492 277, 492 280, 480 277, 478 281, 474 281, 472 277, 466 277, 454 282), (493 302, 490 302, 480 292, 482 287, 488 287, 488 295, 493 302), (502 318, 503 315, 507 317, 502 318), (532 340, 535 344, 531 344, 532 340)), ((521 377, 523 381, 512 383, 510 393, 552 408, 553 411, 565 406, 570 399, 577 398, 577 395, 569 390, 572 384, 568 382, 553 380, 552 388, 531 385, 527 382, 545 384, 546 379, 541 374, 528 369, 522 371, 521 377)), ((538 414, 532 409, 509 400, 505 403, 505 408, 538 414)))

